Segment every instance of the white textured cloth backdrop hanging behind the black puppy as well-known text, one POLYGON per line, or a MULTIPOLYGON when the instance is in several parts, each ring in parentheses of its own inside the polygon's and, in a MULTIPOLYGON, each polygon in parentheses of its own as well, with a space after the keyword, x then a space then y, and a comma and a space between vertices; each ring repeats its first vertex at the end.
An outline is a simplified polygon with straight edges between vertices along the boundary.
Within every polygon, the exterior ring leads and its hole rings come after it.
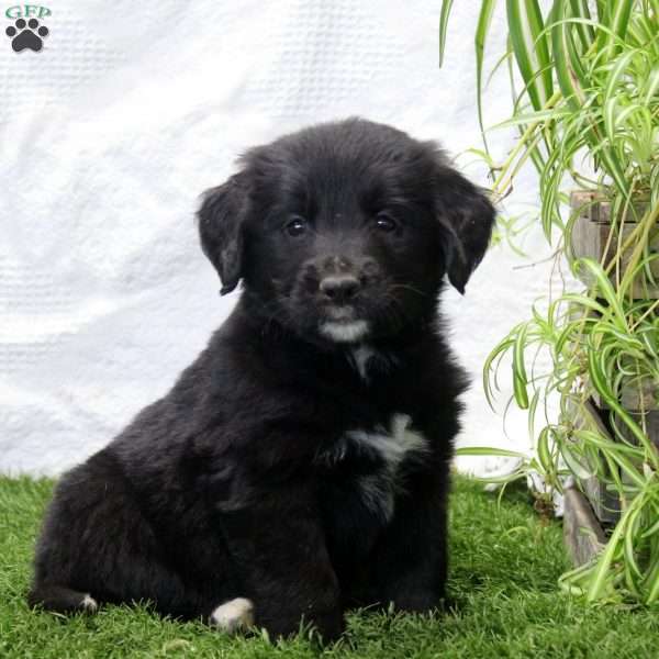
MULTIPOLYGON (((235 294, 217 297, 193 212, 244 148, 351 114, 454 155, 479 144, 477 3, 455 4, 442 70, 439 0, 51 1, 44 49, 18 54, 2 16, 0 471, 85 458, 201 350, 235 294)), ((509 99, 494 82, 492 123, 509 99)), ((503 154, 511 135, 492 142, 503 154)), ((534 197, 518 182, 506 210, 534 197)), ((548 254, 538 232, 526 247, 548 254)), ((462 444, 527 446, 525 417, 510 416, 506 437, 480 386, 489 349, 546 288, 549 266, 522 263, 493 248, 467 295, 445 299, 474 378, 462 444)))

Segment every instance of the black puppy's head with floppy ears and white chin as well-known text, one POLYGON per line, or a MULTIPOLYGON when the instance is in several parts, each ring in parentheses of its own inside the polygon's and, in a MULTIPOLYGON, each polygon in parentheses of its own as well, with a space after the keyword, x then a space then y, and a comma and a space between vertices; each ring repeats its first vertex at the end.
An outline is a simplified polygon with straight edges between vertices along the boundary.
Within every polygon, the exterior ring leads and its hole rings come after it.
POLYGON ((222 292, 243 279, 264 316, 310 340, 393 336, 463 292, 494 210, 434 143, 350 119, 247 152, 209 190, 201 245, 222 292))

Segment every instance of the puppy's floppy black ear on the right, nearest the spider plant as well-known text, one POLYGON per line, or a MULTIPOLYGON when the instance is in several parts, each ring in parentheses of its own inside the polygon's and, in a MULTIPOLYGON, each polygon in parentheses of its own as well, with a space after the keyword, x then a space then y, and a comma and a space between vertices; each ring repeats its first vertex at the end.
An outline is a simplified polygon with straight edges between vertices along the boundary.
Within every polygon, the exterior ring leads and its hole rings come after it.
POLYGON ((448 280, 463 294, 490 243, 494 206, 484 192, 443 161, 437 167, 435 189, 448 280))

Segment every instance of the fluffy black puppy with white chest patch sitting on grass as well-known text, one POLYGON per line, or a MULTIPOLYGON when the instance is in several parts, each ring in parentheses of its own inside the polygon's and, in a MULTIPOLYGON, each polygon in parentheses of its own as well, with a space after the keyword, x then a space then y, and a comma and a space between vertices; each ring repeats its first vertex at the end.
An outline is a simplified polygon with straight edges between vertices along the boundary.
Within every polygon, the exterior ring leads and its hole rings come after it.
POLYGON ((325 639, 343 611, 439 603, 466 378, 437 320, 494 212, 435 144, 360 119, 249 150, 199 211, 244 290, 174 389, 60 480, 30 602, 150 600, 325 639))

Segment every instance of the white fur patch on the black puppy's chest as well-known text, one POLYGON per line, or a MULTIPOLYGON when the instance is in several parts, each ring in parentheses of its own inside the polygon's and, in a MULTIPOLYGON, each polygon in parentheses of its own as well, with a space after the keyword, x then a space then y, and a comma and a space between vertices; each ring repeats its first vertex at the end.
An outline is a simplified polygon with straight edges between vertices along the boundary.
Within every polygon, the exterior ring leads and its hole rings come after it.
POLYGON ((359 490, 366 505, 386 522, 393 516, 401 463, 411 454, 420 457, 429 450, 427 439, 410 428, 411 421, 406 414, 395 413, 391 416, 389 431, 348 431, 344 438, 345 443, 372 450, 382 460, 383 468, 359 478, 359 490))

